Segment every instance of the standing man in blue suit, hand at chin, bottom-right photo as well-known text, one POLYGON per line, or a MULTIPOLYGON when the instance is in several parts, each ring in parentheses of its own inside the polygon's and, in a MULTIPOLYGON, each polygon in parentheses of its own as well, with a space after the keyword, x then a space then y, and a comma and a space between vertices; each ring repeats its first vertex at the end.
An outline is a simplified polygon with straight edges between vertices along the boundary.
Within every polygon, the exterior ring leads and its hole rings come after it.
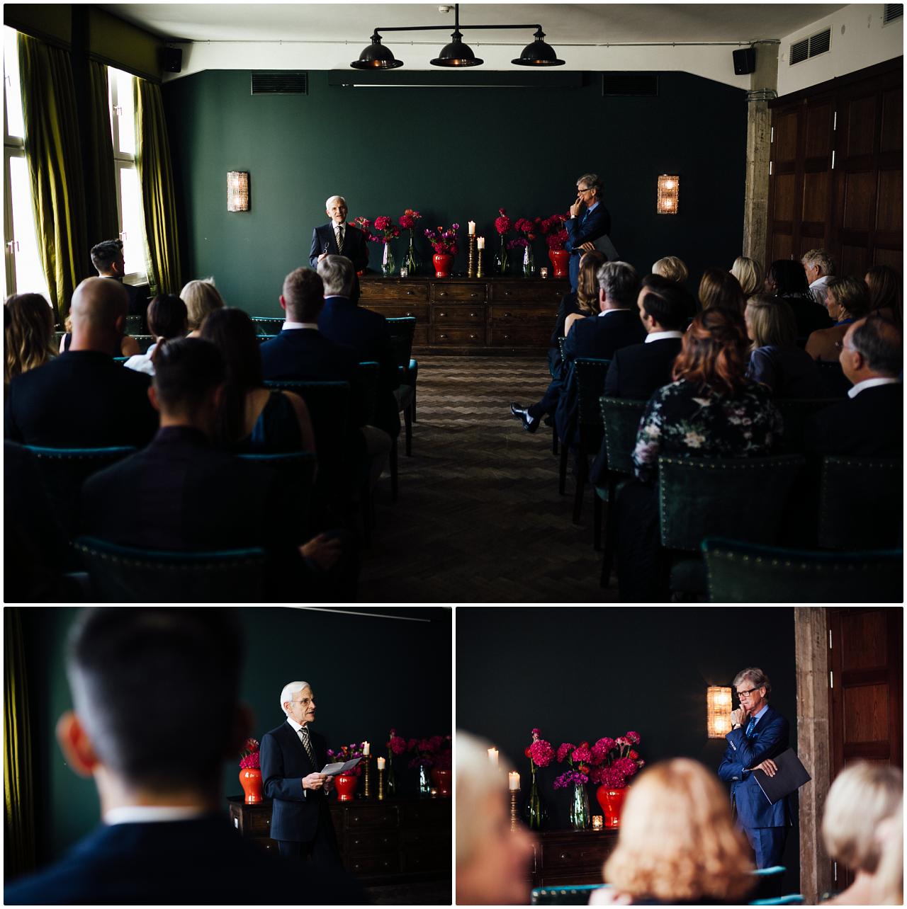
POLYGON ((774 776, 777 757, 789 747, 790 726, 769 706, 771 683, 761 669, 743 669, 733 681, 740 707, 731 713, 731 732, 719 777, 731 784, 731 803, 753 852, 757 868, 781 864, 791 810, 788 798, 771 804, 752 775, 762 770, 774 776))

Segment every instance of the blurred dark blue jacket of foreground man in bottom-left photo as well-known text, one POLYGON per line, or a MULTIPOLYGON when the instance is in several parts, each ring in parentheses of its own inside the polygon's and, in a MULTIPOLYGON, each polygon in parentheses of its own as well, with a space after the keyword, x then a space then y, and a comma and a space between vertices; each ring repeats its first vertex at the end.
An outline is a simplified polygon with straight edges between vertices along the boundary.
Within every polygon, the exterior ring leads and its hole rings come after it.
POLYGON ((4 886, 5 903, 18 905, 345 905, 363 899, 345 874, 268 855, 219 816, 100 826, 61 861, 4 886))

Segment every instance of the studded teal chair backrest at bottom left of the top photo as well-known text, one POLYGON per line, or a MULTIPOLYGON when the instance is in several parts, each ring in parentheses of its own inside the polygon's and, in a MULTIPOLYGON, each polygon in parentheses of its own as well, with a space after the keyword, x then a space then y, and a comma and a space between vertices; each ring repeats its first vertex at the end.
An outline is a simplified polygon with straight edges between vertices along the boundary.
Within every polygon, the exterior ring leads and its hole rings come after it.
POLYGON ((257 603, 264 592, 262 549, 173 553, 77 537, 76 553, 102 603, 257 603))

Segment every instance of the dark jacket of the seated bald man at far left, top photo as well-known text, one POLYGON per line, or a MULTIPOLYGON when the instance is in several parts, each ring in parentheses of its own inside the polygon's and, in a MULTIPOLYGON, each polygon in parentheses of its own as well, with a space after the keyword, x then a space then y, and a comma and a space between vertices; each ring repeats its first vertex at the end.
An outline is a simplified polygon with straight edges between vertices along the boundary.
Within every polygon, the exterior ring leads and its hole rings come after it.
POLYGON ((50 448, 146 445, 158 424, 150 384, 111 356, 67 350, 9 384, 4 437, 50 448))

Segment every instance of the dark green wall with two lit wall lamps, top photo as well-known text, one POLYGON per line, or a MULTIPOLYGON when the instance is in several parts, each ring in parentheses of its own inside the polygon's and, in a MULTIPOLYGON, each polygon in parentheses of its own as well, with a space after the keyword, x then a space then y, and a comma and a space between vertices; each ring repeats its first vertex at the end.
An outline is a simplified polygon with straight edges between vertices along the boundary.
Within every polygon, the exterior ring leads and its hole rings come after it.
MULTIPOLYGON (((309 77, 308 95, 252 96, 247 71, 164 86, 185 275, 214 275, 229 305, 279 315, 284 275, 307 264, 312 227, 327 221, 334 193, 346 196, 350 218, 416 208, 422 227, 457 221, 463 235, 472 218, 493 251, 499 207, 566 212, 576 178, 596 171, 614 244, 641 273, 680 255, 698 285, 707 265, 730 268, 741 253, 739 89, 685 73, 660 74, 658 97, 607 98, 598 74, 575 88, 342 88, 327 72, 309 77), (247 213, 227 213, 230 170, 251 175, 247 213), (662 173, 680 174, 680 215, 655 214, 662 173)), ((402 239, 395 249, 399 260, 402 239)), ((423 237, 423 261, 430 252, 423 237)), ((371 266, 379 263, 373 244, 371 266)), ((463 252, 455 267, 465 269, 463 252)))

